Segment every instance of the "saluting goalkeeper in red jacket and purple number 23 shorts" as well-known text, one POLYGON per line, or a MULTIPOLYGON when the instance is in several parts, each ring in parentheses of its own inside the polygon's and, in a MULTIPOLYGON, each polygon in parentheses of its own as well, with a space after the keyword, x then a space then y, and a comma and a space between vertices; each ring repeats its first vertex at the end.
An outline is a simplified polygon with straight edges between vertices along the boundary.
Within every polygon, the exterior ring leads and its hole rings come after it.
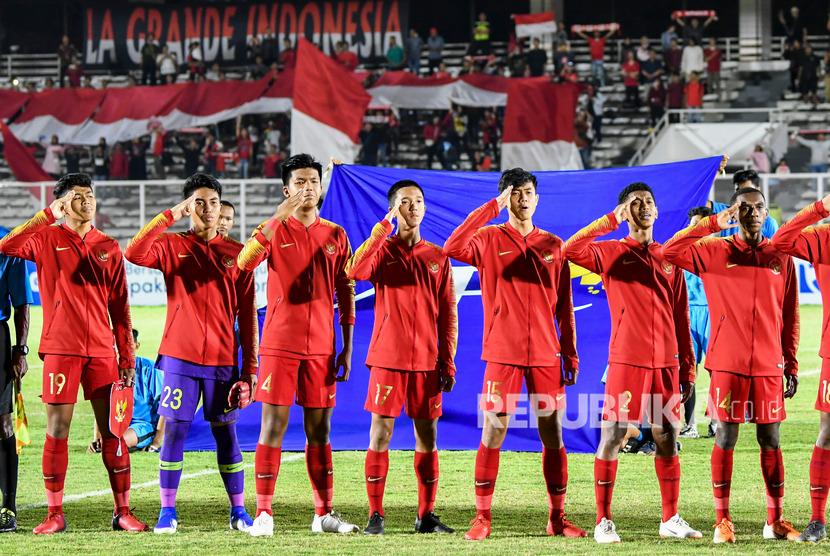
POLYGON ((216 231, 222 186, 212 176, 193 174, 182 188, 184 201, 156 216, 127 245, 133 264, 155 268, 167 286, 167 319, 157 366, 164 371, 159 414, 166 420, 159 457, 161 512, 153 531, 178 528, 176 493, 184 441, 201 398, 202 414, 216 441, 216 461, 230 501, 230 528, 247 531, 245 472, 236 437, 242 392, 256 385, 257 324, 253 275, 240 272, 242 244, 216 231), (165 231, 190 217, 190 229, 165 231), (239 374, 234 320, 239 320, 239 374), (244 386, 243 386, 244 385, 244 386))

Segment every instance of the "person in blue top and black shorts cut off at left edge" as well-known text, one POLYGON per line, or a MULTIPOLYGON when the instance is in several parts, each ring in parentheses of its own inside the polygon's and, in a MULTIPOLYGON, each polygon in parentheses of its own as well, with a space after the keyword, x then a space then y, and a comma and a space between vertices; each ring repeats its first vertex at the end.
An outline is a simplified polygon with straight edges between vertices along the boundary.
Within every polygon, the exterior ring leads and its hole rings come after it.
MULTIPOLYGON (((9 230, 0 226, 0 238, 9 230)), ((0 254, 0 533, 17 531, 17 441, 14 436, 14 381, 21 380, 29 364, 29 305, 32 287, 26 263, 0 254), (15 343, 12 345, 9 319, 14 307, 15 343)))

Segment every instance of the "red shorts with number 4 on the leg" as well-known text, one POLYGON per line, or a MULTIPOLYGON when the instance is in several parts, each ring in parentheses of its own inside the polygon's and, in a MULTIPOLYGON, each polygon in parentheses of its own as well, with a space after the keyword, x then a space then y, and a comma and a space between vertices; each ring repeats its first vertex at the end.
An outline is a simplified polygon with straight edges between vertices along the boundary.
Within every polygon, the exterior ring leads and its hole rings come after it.
POLYGON ((317 359, 262 355, 254 399, 272 405, 292 405, 296 396, 297 405, 303 407, 334 407, 334 376, 334 355, 317 359))

